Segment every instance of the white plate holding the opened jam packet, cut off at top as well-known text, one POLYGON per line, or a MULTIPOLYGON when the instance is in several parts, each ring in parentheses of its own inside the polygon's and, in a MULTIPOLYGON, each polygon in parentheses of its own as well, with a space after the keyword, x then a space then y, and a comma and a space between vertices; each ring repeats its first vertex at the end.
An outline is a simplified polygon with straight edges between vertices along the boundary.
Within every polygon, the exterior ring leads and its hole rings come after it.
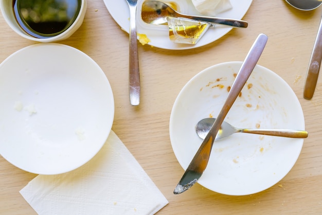
MULTIPOLYGON (((130 29, 130 10, 126 0, 103 0, 106 8, 108 8, 113 19, 117 24, 125 31, 129 33, 130 29)), ((251 6, 253 0, 230 0, 232 8, 225 12, 217 14, 218 17, 238 19, 241 20, 242 17, 247 12, 248 8, 251 6)), ((223 37, 226 33, 231 30, 231 27, 217 25, 216 28, 210 27, 208 31, 203 35, 198 43, 195 45, 190 44, 178 44, 173 43, 169 39, 169 28, 167 25, 151 25, 146 24, 141 19, 141 6, 144 0, 138 0, 137 3, 137 33, 146 34, 151 40, 149 45, 164 48, 164 49, 190 49, 200 46, 204 46, 213 41, 218 40, 223 37)), ((202 15, 195 10, 191 0, 171 0, 178 5, 178 11, 191 14, 191 15, 202 15)), ((247 21, 247 20, 245 20, 247 21)), ((239 29, 241 31, 246 29, 239 29)))

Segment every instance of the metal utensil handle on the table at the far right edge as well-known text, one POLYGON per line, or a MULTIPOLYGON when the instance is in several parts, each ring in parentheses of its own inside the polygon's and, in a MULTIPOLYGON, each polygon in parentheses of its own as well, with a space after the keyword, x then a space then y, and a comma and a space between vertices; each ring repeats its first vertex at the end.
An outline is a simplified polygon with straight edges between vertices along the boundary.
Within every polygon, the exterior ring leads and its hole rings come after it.
POLYGON ((307 71, 307 77, 304 85, 303 97, 305 99, 312 99, 317 78, 320 70, 322 60, 322 17, 317 31, 316 39, 313 46, 313 51, 307 71))

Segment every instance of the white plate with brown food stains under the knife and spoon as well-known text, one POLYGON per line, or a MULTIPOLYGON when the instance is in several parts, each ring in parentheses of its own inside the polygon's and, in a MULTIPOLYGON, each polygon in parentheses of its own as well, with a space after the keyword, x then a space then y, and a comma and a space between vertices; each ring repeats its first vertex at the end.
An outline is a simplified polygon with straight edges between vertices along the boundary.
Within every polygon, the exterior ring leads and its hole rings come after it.
MULTIPOLYGON (((186 169, 200 147, 196 123, 217 117, 242 62, 209 67, 193 77, 176 98, 170 116, 174 154, 186 169)), ((301 105, 291 87, 257 65, 225 121, 237 128, 305 130, 301 105), (250 87, 248 89, 248 87, 250 87)), ((236 133, 214 143, 199 183, 228 195, 246 195, 279 182, 294 166, 303 139, 236 133)), ((180 180, 180 178, 178 178, 180 180)))

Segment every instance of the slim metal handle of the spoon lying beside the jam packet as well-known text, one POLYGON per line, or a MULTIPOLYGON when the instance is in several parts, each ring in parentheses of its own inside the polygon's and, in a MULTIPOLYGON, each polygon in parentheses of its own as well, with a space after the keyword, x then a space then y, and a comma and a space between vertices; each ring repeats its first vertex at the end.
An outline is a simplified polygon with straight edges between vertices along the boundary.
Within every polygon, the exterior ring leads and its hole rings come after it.
POLYGON ((185 15, 182 13, 180 13, 180 16, 190 20, 203 21, 210 24, 215 23, 220 25, 229 25, 231 27, 236 27, 236 28, 247 28, 248 26, 248 23, 243 20, 225 19, 225 18, 209 17, 209 16, 185 15))

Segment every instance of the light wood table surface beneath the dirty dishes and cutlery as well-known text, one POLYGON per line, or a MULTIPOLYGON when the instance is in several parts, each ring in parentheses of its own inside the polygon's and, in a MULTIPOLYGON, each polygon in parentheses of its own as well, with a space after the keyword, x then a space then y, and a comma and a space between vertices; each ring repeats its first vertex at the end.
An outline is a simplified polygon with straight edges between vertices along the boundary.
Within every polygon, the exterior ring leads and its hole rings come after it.
MULTIPOLYGON (((248 28, 232 29, 206 46, 165 50, 139 44, 141 103, 131 106, 129 35, 112 19, 102 0, 87 2, 82 26, 59 43, 85 52, 104 70, 115 99, 112 129, 169 201, 158 214, 322 213, 322 79, 318 80, 313 99, 302 96, 322 7, 299 11, 283 0, 254 0, 243 17, 248 28), (269 41, 258 64, 282 77, 302 105, 309 137, 299 159, 277 185, 260 193, 229 196, 196 184, 189 191, 174 195, 173 189, 184 172, 169 137, 169 118, 176 96, 204 68, 226 61, 243 61, 259 33, 267 34, 269 41)), ((35 44, 11 30, 2 15, 0 32, 0 62, 13 52, 35 44)), ((35 176, 0 156, 0 214, 35 214, 19 193, 35 176)))

